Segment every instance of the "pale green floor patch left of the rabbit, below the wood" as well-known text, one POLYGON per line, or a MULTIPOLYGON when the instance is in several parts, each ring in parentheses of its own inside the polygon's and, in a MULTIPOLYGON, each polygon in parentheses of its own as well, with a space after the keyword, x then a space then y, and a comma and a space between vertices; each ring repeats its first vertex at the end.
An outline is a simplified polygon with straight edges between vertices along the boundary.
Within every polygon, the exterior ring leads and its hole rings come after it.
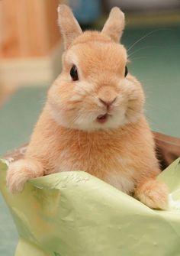
POLYGON ((29 141, 40 110, 46 101, 47 86, 24 87, 0 109, 0 155, 29 141))

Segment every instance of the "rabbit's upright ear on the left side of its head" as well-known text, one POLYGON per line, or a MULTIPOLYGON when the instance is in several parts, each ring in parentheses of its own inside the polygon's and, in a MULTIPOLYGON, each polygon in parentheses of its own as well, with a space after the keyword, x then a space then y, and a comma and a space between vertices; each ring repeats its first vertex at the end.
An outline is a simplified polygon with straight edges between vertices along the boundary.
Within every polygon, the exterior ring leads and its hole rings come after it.
POLYGON ((64 47, 67 49, 70 44, 72 44, 72 41, 74 41, 79 34, 82 34, 82 29, 67 5, 59 5, 57 11, 58 24, 61 34, 63 35, 64 47))

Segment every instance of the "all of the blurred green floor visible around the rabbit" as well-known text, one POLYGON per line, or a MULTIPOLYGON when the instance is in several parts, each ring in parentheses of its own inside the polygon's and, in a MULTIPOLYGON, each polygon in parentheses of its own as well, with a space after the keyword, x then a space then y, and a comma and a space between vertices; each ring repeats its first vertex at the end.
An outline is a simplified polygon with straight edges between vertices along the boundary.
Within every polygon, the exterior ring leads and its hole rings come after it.
MULTIPOLYGON (((151 34, 130 49, 129 71, 143 83, 151 128, 180 137, 180 26, 129 28, 124 32, 123 43, 128 48, 148 33, 151 34)), ((46 86, 20 89, 0 109, 0 154, 29 140, 46 92, 46 86)), ((17 241, 8 209, 0 197, 0 255, 13 255, 17 241)))

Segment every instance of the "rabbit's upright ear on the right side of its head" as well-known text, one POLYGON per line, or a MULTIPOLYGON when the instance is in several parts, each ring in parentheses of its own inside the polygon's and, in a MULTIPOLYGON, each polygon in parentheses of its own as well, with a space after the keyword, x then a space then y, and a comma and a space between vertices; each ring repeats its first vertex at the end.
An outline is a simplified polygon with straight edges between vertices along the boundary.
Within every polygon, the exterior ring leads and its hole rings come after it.
POLYGON ((104 24, 102 33, 107 34, 115 42, 119 42, 124 30, 124 13, 120 8, 114 7, 111 9, 109 18, 104 24))

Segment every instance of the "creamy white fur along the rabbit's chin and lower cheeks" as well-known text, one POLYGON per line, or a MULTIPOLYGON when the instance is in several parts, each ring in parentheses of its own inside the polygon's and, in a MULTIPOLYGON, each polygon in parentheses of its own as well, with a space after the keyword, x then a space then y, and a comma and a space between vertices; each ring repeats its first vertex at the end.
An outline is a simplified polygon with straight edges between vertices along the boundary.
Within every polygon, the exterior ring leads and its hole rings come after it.
POLYGON ((117 110, 113 115, 108 115, 108 118, 104 123, 98 122, 98 115, 95 114, 79 115, 78 118, 75 118, 74 122, 70 122, 69 118, 63 116, 60 111, 57 111, 51 105, 47 105, 47 110, 50 117, 59 125, 81 131, 112 130, 120 128, 130 122, 137 122, 140 118, 140 115, 137 115, 136 117, 133 116, 133 118, 128 117, 124 110, 117 110))

